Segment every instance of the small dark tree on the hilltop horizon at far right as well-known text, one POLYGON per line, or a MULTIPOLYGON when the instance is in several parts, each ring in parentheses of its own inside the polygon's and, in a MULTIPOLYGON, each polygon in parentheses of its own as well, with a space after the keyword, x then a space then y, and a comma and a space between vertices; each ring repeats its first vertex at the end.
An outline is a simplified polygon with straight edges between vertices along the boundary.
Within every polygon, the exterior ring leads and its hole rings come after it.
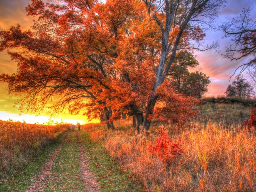
POLYGON ((227 97, 248 98, 253 93, 253 87, 245 79, 238 78, 228 85, 225 93, 227 97))

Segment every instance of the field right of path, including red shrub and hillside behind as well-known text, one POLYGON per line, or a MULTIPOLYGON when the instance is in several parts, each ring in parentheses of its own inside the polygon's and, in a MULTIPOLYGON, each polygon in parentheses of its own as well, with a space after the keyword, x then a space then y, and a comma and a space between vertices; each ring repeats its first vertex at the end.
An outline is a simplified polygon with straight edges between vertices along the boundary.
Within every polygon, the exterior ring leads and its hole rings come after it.
POLYGON ((84 130, 145 190, 255 191, 255 130, 241 126, 251 107, 205 103, 197 109, 183 127, 154 126, 149 134, 137 134, 131 121, 116 122, 115 132, 100 125, 84 130))

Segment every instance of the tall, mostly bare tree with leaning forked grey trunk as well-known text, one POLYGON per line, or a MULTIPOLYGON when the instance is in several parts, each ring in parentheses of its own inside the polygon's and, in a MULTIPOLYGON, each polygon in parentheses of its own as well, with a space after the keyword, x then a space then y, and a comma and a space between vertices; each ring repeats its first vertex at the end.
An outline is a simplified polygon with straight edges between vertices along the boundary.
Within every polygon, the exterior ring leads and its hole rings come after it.
POLYGON ((148 130, 157 101, 157 89, 166 80, 177 51, 194 47, 188 41, 183 41, 182 37, 200 41, 203 33, 199 25, 211 25, 224 0, 144 0, 144 2, 152 20, 161 28, 161 51, 158 64, 154 69, 156 78, 150 99, 146 103, 143 123, 148 130))

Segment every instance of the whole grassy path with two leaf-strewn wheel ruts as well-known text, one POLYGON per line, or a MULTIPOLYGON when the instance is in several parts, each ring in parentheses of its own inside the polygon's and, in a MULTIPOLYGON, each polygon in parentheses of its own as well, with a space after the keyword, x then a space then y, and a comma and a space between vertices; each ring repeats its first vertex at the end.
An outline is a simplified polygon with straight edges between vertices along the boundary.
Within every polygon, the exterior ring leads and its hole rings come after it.
POLYGON ((141 191, 105 149, 83 131, 68 131, 22 170, 0 179, 0 192, 141 191))

